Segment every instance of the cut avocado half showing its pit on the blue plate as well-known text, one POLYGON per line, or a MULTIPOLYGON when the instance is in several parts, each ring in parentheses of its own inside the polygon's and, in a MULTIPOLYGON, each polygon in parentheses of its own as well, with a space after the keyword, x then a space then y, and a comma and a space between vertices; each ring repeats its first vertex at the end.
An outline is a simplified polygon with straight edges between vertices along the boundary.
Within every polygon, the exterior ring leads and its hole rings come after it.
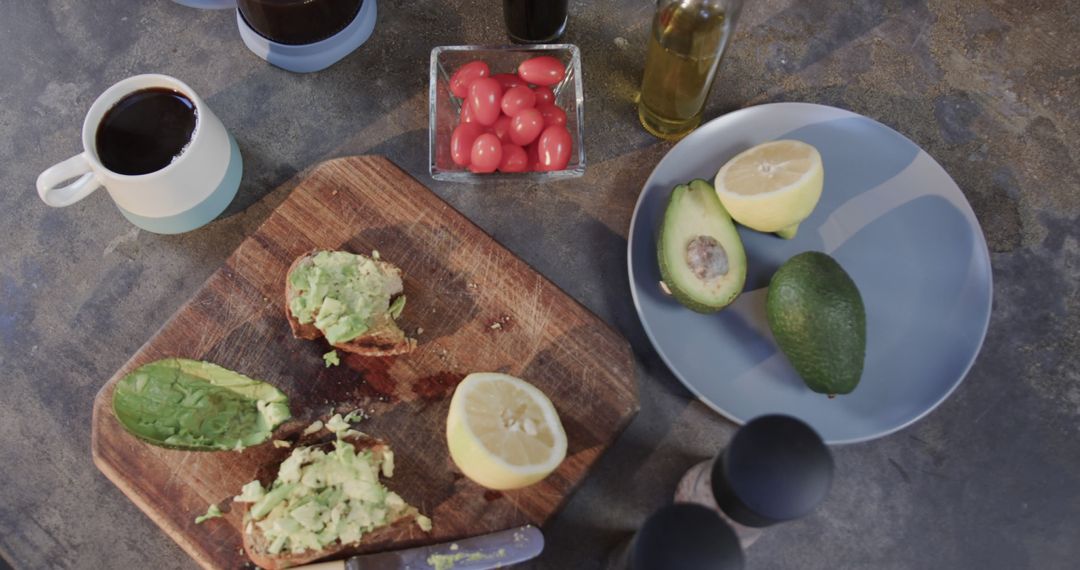
POLYGON ((672 296, 699 313, 724 309, 746 282, 742 240, 705 180, 679 185, 672 191, 660 226, 657 258, 672 296))

